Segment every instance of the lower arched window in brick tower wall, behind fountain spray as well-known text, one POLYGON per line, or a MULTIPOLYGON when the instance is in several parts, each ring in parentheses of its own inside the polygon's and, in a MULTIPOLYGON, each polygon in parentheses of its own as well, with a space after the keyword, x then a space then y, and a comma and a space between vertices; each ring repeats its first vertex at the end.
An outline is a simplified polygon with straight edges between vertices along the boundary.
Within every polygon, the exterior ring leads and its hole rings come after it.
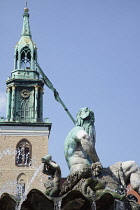
POLYGON ((26 175, 24 173, 19 174, 17 177, 17 196, 22 197, 25 193, 26 187, 26 175))

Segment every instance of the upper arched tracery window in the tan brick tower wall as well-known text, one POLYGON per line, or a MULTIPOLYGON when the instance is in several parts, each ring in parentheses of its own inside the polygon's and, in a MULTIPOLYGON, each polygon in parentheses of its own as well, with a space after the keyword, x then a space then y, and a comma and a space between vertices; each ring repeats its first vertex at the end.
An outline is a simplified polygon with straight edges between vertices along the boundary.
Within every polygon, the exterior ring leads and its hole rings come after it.
POLYGON ((16 146, 16 165, 30 166, 31 165, 31 143, 27 139, 22 139, 16 146))

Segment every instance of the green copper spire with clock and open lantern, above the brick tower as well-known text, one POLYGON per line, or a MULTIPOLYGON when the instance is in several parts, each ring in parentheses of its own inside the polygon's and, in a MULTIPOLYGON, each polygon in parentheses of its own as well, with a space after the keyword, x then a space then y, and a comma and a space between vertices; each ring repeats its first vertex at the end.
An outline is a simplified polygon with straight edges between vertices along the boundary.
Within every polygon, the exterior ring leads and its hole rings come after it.
POLYGON ((23 28, 15 46, 14 70, 7 84, 7 120, 42 122, 44 82, 37 71, 37 48, 32 41, 27 3, 23 14, 23 28))

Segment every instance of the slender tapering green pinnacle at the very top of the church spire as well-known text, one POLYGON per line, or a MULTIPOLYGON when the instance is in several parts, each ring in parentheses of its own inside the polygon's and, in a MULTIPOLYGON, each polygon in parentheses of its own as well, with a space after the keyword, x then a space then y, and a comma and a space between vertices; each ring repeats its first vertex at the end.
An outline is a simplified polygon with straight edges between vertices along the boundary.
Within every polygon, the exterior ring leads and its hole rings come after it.
POLYGON ((26 7, 24 8, 24 13, 23 13, 22 36, 31 36, 28 12, 29 9, 27 8, 27 2, 26 2, 26 7))

